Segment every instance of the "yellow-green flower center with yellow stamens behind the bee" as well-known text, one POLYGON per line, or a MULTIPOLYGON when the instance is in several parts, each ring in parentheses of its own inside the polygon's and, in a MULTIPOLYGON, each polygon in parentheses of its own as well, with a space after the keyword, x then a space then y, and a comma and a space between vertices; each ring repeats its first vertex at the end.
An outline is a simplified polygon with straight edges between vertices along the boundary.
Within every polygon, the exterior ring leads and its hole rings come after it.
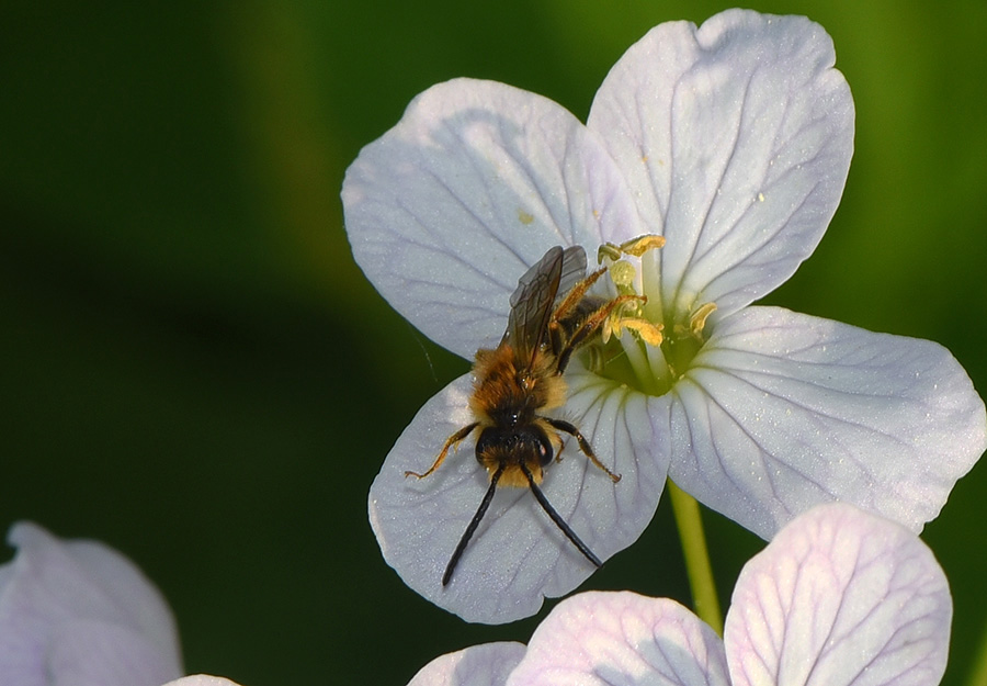
POLYGON ((636 297, 605 323, 602 350, 590 368, 649 395, 668 393, 689 370, 708 338, 706 319, 716 311, 715 303, 701 304, 684 315, 665 308, 654 254, 663 245, 661 236, 645 235, 619 246, 604 244, 598 254, 617 294, 636 297))

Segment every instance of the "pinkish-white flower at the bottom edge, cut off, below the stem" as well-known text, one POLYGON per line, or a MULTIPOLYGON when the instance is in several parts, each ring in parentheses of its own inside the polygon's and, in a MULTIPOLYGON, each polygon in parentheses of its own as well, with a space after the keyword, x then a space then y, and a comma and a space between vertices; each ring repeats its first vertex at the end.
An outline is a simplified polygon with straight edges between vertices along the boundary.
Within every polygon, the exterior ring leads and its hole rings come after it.
POLYGON ((416 686, 935 686, 952 598, 932 552, 905 527, 850 505, 795 518, 745 565, 724 638, 666 598, 563 600, 526 652, 488 644, 440 657, 416 686), (476 670, 443 664, 483 662, 476 670))

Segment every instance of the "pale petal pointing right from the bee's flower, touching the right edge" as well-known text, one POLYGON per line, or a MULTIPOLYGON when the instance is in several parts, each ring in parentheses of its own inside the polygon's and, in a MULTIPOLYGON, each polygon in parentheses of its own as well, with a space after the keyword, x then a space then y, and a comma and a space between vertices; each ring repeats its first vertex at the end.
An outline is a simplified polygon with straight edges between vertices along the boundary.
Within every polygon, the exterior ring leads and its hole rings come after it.
POLYGON ((671 395, 670 477, 764 538, 835 499, 921 531, 987 446, 943 347, 779 307, 721 320, 671 395))

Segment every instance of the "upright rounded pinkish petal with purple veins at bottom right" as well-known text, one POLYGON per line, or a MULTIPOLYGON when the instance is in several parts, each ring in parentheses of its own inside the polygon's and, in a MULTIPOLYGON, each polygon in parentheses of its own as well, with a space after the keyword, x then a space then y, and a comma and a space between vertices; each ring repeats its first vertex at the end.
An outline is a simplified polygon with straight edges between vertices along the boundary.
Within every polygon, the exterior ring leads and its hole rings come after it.
POLYGON ((915 535, 824 505, 740 573, 724 631, 734 686, 935 686, 952 614, 945 575, 915 535))

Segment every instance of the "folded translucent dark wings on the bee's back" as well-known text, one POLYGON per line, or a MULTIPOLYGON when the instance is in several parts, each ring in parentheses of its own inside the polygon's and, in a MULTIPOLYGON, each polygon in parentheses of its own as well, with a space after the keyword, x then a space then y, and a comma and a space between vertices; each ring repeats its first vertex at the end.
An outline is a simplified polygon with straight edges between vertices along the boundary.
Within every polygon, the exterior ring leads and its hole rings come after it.
POLYGON ((548 330, 548 319, 560 294, 586 277, 586 251, 580 246, 549 248, 524 275, 511 295, 511 315, 503 334, 518 360, 530 363, 548 330))

